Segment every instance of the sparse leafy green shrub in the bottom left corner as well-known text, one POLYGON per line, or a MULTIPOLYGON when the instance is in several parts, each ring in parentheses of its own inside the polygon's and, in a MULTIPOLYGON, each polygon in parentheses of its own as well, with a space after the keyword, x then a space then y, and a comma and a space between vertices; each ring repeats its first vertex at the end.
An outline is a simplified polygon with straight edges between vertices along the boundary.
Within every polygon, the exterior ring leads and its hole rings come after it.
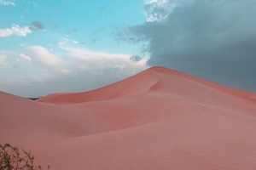
MULTIPOLYGON (((39 165, 34 166, 35 157, 32 156, 31 150, 27 152, 21 147, 24 157, 20 156, 17 146, 10 144, 0 144, 0 170, 42 170, 39 165)), ((49 166, 48 166, 49 170, 49 166)))

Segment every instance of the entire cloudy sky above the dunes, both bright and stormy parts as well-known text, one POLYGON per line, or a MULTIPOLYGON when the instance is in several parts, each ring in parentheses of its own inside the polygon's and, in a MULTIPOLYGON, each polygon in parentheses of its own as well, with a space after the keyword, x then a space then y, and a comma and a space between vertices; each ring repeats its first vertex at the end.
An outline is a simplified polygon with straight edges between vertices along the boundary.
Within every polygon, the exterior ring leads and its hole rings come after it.
POLYGON ((0 0, 0 91, 83 92, 150 66, 256 93, 254 0, 0 0))

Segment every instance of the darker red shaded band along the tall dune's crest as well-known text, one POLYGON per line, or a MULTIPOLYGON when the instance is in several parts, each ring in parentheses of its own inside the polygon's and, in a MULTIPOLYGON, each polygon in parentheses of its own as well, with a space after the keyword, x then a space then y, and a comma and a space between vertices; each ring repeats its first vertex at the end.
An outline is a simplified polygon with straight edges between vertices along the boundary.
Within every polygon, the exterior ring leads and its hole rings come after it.
POLYGON ((224 93, 234 94, 245 99, 251 99, 253 96, 253 94, 242 92, 235 88, 224 87, 214 82, 208 82, 204 79, 193 77, 180 71, 174 71, 171 69, 166 69, 164 67, 154 66, 146 71, 137 74, 134 77, 130 77, 129 79, 125 79, 120 82, 115 82, 103 88, 98 88, 96 90, 91 90, 89 92, 82 93, 49 94, 44 98, 38 99, 38 101, 45 103, 82 103, 94 100, 114 99, 125 94, 131 94, 132 92, 134 93, 145 88, 152 88, 154 85, 160 84, 158 83, 159 73, 168 74, 167 76, 183 78, 187 81, 195 83, 200 83, 201 85, 205 85, 208 88, 217 88, 218 90, 221 90, 224 93))

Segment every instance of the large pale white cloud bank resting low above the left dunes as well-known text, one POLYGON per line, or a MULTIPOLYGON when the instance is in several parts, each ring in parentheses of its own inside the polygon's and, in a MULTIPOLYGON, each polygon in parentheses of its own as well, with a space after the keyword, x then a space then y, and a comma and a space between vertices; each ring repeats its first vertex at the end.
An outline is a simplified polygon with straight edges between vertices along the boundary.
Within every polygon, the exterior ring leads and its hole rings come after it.
MULTIPOLYGON (((22 96, 86 91, 131 77, 148 68, 146 60, 132 62, 128 54, 92 52, 83 48, 67 46, 63 46, 61 49, 64 52, 61 54, 65 54, 65 57, 40 46, 27 46, 24 52, 15 52, 11 55, 10 52, 1 52, 0 50, 0 56, 9 53, 9 56, 12 56, 12 60, 15 61, 15 65, 22 65, 19 67, 19 75, 13 75, 9 78, 10 80, 6 81, 0 79, 5 87, 10 87, 4 90, 11 92, 14 91, 14 88, 11 87, 15 87, 17 94, 22 96), (17 58, 17 56, 20 57, 17 58), (25 62, 25 56, 29 56, 31 62, 25 62), (17 62, 17 59, 20 62, 17 62)), ((2 63, 6 63, 4 59, 6 57, 2 59, 2 63)))

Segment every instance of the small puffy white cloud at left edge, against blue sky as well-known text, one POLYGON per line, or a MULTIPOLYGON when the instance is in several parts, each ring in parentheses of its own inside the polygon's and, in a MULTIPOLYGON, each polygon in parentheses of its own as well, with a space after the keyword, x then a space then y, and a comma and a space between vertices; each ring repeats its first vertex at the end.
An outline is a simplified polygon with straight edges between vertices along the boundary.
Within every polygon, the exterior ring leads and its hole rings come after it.
POLYGON ((26 37, 26 34, 31 32, 28 26, 21 28, 20 26, 12 25, 11 28, 0 29, 0 37, 10 37, 12 35, 26 37))

